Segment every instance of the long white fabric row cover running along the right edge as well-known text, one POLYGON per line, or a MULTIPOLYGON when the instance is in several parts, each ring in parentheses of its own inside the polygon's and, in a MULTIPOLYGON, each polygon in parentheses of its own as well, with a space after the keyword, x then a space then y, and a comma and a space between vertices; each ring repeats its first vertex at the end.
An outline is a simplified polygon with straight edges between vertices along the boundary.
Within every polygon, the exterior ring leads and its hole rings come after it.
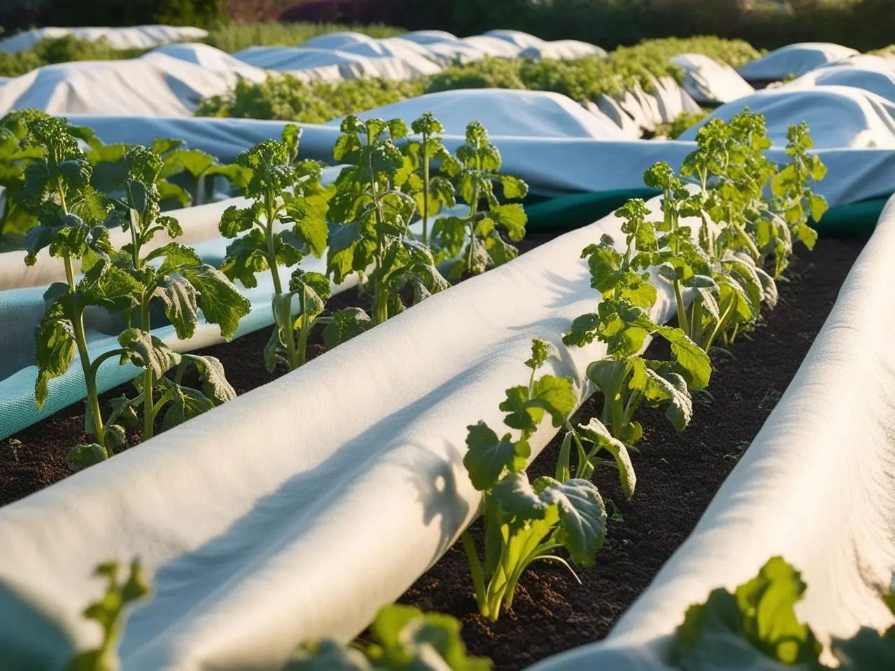
POLYGON ((893 265, 895 199, 796 377, 690 537, 606 641, 531 671, 668 669, 670 635, 686 608, 751 579, 771 556, 802 572, 798 615, 822 641, 893 624, 877 591, 895 570, 893 265))

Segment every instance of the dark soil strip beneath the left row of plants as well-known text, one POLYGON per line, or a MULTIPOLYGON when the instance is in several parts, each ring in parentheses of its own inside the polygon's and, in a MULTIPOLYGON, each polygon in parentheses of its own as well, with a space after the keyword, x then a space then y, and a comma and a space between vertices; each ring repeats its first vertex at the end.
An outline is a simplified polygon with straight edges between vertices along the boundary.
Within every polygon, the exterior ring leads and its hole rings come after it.
MULTIPOLYGON (((524 253, 564 233, 565 230, 559 229, 530 231, 524 240, 514 244, 520 253, 524 253)), ((369 308, 354 290, 339 293, 328 302, 328 307, 331 309, 348 306, 369 308)), ((245 394, 288 372, 285 361, 280 361, 273 374, 268 373, 264 367, 262 352, 271 330, 271 327, 263 328, 232 343, 217 344, 195 353, 220 359, 224 364, 227 381, 237 394, 245 394)), ((320 356, 323 352, 326 352, 326 347, 320 342, 319 334, 311 335, 308 360, 320 356)), ((103 412, 107 412, 110 399, 133 393, 133 386, 128 383, 101 395, 100 405, 103 412)), ((83 402, 74 403, 46 420, 20 431, 7 440, 0 441, 0 506, 27 497, 72 474, 72 469, 65 460, 66 454, 72 446, 92 442, 84 433, 84 412, 83 402)), ((129 433, 130 446, 140 442, 139 432, 129 433)))

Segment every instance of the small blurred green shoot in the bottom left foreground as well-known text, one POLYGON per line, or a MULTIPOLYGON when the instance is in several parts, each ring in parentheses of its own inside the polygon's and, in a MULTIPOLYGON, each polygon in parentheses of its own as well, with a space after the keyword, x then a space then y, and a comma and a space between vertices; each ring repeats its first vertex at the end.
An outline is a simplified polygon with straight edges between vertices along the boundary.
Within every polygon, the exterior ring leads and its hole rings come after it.
POLYGON ((149 584, 138 560, 132 562, 124 582, 118 579, 118 570, 115 562, 97 566, 95 575, 106 579, 106 593, 84 610, 84 617, 102 627, 102 642, 95 650, 77 653, 69 662, 68 671, 117 671, 120 667, 117 647, 124 632, 125 612, 149 596, 149 584))

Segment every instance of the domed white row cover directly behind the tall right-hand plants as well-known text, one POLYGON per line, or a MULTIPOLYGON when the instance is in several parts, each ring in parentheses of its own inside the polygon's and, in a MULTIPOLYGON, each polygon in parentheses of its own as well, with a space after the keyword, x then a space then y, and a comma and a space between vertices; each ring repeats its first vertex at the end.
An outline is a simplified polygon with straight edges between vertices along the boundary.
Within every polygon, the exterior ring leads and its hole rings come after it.
POLYGON ((768 137, 778 147, 786 146, 789 124, 804 121, 817 149, 895 148, 895 103, 850 86, 756 91, 720 106, 680 139, 695 140, 698 129, 709 120, 727 121, 746 107, 764 115, 768 137))

